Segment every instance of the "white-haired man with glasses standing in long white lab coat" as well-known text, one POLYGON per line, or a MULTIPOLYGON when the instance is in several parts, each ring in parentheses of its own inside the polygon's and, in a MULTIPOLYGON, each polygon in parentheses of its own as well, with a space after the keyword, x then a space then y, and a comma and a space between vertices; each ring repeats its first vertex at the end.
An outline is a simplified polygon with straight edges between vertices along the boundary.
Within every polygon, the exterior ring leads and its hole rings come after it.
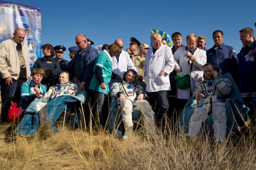
POLYGON ((168 114, 168 91, 171 90, 169 74, 174 69, 174 58, 171 48, 162 44, 162 36, 153 33, 150 37, 153 46, 147 50, 144 62, 144 80, 149 103, 155 106, 156 99, 159 103, 160 118, 168 114))

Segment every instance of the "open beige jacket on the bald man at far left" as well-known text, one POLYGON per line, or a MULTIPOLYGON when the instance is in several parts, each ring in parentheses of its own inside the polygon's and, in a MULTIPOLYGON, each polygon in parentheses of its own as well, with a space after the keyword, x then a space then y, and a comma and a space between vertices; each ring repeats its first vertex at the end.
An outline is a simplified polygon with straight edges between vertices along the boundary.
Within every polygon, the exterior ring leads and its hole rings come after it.
MULTIPOLYGON (((26 64, 27 77, 30 77, 29 48, 23 42, 22 54, 26 64)), ((12 39, 0 43, 0 75, 1 78, 13 76, 15 80, 19 78, 20 65, 16 51, 17 43, 12 39)))

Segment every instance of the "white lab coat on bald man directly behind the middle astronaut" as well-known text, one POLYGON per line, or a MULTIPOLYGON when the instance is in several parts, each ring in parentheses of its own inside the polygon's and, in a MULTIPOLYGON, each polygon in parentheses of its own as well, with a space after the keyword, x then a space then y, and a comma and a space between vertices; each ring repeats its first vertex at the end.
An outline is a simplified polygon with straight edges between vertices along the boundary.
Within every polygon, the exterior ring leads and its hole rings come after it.
MULTIPOLYGON (((128 54, 128 52, 123 51, 121 52, 118 62, 117 62, 117 58, 112 57, 112 72, 122 76, 123 73, 125 73, 127 70, 132 69, 135 70, 137 75, 139 74, 136 67, 134 66, 133 61, 131 61, 131 58, 128 54)), ((119 80, 117 79, 111 79, 110 83, 109 83, 109 87, 111 87, 111 85, 115 82, 118 82, 119 80)))

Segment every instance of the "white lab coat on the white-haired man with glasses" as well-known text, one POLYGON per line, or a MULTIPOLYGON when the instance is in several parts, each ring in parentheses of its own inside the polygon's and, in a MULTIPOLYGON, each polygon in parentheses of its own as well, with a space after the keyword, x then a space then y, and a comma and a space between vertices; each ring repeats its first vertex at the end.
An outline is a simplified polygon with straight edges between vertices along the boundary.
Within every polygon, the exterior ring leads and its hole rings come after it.
POLYGON ((147 50, 143 72, 147 72, 144 77, 147 92, 159 92, 171 90, 169 74, 174 69, 174 58, 171 48, 161 45, 160 49, 153 54, 153 47, 147 50), (159 77, 160 71, 165 71, 168 75, 159 77))

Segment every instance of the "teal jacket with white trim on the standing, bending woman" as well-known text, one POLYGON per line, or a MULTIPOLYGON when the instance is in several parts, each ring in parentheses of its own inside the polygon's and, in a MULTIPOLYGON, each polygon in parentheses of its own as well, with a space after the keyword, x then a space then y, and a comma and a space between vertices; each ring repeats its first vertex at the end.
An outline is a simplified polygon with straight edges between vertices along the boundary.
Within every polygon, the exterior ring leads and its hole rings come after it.
POLYGON ((109 52, 104 50, 98 54, 94 65, 94 71, 96 66, 102 68, 102 77, 104 83, 106 84, 107 90, 101 88, 101 83, 97 80, 95 73, 93 74, 93 79, 91 80, 89 89, 108 94, 110 92, 108 84, 110 83, 112 74, 112 58, 110 57, 109 52))

